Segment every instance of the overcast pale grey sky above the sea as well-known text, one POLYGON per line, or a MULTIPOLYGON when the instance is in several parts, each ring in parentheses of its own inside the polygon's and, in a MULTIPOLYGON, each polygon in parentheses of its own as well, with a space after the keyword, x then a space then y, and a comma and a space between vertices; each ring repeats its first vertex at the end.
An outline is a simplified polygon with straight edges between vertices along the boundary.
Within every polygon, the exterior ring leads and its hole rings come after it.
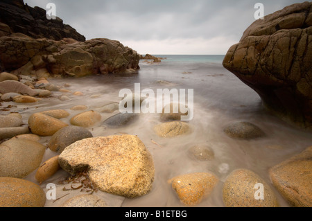
POLYGON ((145 55, 225 55, 255 21, 294 0, 24 0, 56 6, 56 16, 86 39, 118 40, 145 55))

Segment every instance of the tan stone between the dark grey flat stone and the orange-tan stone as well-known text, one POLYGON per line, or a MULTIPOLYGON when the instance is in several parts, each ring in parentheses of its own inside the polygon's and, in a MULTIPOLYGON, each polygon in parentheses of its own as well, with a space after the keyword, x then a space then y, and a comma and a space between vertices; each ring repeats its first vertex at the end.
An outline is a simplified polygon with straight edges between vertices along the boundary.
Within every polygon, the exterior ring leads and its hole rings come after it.
POLYGON ((94 111, 83 112, 71 118, 71 124, 79 127, 92 127, 95 123, 101 121, 101 114, 94 111))

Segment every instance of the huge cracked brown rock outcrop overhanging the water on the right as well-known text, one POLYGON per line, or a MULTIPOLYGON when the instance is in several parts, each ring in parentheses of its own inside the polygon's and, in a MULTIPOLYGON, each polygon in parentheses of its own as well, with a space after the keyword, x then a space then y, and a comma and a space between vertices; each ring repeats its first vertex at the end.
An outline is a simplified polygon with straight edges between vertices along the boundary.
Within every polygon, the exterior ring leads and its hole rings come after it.
POLYGON ((245 30, 223 66, 289 123, 312 129, 312 3, 296 3, 245 30))

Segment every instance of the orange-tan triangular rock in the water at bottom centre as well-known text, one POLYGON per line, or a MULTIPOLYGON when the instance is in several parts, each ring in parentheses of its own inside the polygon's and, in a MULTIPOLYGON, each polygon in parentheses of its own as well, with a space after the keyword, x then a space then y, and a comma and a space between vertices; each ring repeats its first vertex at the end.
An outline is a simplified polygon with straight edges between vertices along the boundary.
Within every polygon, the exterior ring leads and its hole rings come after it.
POLYGON ((169 182, 183 204, 196 206, 209 196, 218 181, 211 173, 192 173, 174 177, 169 182))

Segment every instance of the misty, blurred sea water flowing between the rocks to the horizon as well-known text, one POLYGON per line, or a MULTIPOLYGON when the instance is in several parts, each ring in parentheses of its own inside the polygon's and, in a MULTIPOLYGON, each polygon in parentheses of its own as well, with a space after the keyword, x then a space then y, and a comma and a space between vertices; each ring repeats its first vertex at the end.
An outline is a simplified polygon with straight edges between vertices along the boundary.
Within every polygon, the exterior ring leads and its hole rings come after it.
MULTIPOLYGON (((245 85, 223 65, 224 55, 155 55, 165 58, 160 63, 140 61, 138 73, 87 76, 85 78, 49 79, 55 85, 68 83, 71 91, 81 91, 83 96, 69 96, 60 101, 61 92, 39 104, 28 106, 21 112, 27 118, 34 112, 48 109, 70 110, 74 105, 87 105, 97 110, 107 103, 119 102, 121 89, 193 89, 193 118, 189 121, 192 133, 175 138, 162 138, 153 127, 162 123, 160 114, 140 114, 139 120, 128 126, 110 129, 102 123, 89 128, 94 136, 113 134, 137 135, 153 156, 155 181, 147 195, 135 199, 124 199, 124 207, 182 207, 168 180, 187 173, 214 173, 220 181, 209 197, 198 207, 223 207, 222 188, 232 171, 245 168, 257 173, 277 195, 280 206, 290 206, 272 186, 268 170, 312 145, 312 134, 288 125, 263 108, 259 95, 245 85), (248 121, 266 133, 261 139, 236 140, 229 138, 224 128, 236 121, 248 121), (198 161, 189 156, 194 145, 205 144, 214 151, 214 159, 198 161)), ((101 113, 103 121, 115 113, 101 113)), ((69 121, 69 119, 65 120, 69 121)), ((43 142, 49 142, 49 137, 43 142)), ((46 150, 44 159, 53 153, 46 150)), ((58 179, 60 176, 58 176, 58 179)), ((33 174, 27 177, 34 180, 33 174)), ((47 182, 58 182, 51 178, 47 182)))

